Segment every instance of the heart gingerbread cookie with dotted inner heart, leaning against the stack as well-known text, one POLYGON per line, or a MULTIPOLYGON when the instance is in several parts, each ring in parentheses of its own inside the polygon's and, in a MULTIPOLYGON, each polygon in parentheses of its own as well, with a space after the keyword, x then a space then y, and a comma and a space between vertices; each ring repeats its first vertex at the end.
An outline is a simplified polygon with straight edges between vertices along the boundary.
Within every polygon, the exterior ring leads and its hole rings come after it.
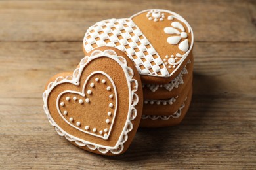
POLYGON ((117 155, 127 150, 142 115, 142 84, 132 61, 98 48, 73 73, 51 78, 44 110, 57 133, 84 150, 117 155))

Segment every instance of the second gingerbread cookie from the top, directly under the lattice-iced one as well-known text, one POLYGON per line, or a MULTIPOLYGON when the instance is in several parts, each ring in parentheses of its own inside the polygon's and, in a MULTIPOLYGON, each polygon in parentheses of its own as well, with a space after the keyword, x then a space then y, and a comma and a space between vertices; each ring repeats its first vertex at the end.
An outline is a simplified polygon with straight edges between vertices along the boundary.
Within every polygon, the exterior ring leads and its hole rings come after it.
POLYGON ((181 73, 168 84, 142 84, 144 99, 167 99, 182 93, 192 78, 193 63, 193 59, 188 60, 181 73))

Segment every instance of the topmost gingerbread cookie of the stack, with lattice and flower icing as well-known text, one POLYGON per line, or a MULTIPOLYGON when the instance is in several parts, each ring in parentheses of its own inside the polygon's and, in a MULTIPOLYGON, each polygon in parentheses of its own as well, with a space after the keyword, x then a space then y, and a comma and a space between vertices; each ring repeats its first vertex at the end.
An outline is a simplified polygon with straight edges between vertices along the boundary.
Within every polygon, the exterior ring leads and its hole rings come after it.
POLYGON ((87 55, 98 46, 117 48, 133 61, 142 82, 167 84, 192 56, 193 32, 186 20, 169 10, 144 10, 123 19, 97 22, 83 39, 87 55))

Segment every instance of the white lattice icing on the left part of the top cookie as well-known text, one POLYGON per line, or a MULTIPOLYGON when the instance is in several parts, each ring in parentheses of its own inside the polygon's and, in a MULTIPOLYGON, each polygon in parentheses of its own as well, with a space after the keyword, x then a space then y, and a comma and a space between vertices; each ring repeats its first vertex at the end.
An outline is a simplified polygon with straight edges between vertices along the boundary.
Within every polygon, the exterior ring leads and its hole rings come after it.
POLYGON ((131 19, 111 19, 87 29, 84 48, 110 46, 125 52, 141 75, 169 76, 160 55, 131 19))

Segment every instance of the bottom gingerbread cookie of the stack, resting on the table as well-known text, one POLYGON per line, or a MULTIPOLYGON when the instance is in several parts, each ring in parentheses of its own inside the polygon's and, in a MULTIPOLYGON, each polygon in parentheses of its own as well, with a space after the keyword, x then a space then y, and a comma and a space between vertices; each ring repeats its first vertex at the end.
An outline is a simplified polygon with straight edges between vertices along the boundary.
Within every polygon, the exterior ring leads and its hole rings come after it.
POLYGON ((142 118, 140 121, 140 127, 167 127, 167 126, 175 126, 180 124, 184 119, 186 112, 188 112, 190 102, 192 99, 192 88, 185 98, 184 102, 181 104, 179 109, 175 112, 170 112, 169 115, 161 116, 161 115, 147 115, 142 114, 142 118))

